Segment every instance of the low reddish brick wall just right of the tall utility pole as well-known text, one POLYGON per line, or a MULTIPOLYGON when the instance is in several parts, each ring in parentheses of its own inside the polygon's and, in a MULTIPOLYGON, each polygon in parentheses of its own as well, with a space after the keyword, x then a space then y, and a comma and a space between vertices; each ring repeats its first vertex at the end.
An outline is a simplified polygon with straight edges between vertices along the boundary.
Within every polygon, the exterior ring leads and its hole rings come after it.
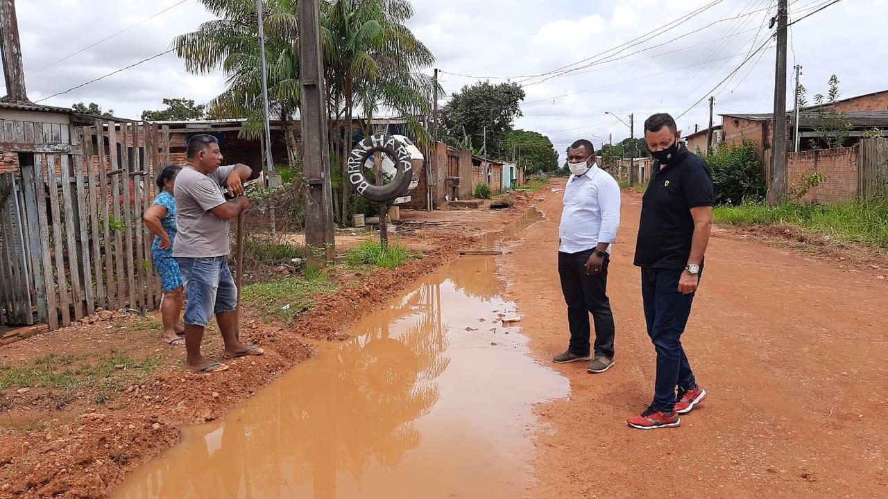
POLYGON ((857 147, 790 153, 787 161, 789 189, 801 184, 806 172, 819 171, 827 177, 809 190, 805 202, 836 202, 857 196, 857 147))

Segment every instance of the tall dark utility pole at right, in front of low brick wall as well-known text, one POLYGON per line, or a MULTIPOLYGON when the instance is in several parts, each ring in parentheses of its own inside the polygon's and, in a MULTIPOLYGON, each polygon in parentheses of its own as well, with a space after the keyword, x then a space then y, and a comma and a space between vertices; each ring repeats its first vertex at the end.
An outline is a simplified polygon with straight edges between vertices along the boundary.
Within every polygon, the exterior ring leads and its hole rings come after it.
POLYGON ((774 75, 774 130, 768 202, 776 205, 786 194, 786 28, 787 0, 777 4, 777 67, 774 75))

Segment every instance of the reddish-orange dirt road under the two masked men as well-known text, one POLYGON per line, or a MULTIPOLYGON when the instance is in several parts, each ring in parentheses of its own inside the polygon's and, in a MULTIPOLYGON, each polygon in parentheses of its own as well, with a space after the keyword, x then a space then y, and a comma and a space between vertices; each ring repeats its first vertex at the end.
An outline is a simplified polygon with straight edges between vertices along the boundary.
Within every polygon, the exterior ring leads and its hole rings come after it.
MULTIPOLYGON (((551 184, 562 188, 564 180, 551 184)), ((557 273, 560 193, 501 258, 537 360, 567 345, 557 273)), ((616 365, 537 407, 534 497, 888 496, 888 291, 878 273, 714 231, 684 344, 709 398, 678 429, 631 430, 650 403, 654 348, 631 265, 640 194, 624 194, 608 291, 616 365)))

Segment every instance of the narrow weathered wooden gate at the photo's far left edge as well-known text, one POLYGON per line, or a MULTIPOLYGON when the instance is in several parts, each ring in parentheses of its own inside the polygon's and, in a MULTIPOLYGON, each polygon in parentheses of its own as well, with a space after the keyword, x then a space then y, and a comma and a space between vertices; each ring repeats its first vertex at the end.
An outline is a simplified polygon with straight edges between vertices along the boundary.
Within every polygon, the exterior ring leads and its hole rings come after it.
POLYGON ((34 324, 30 230, 25 189, 12 173, 0 174, 0 325, 34 324))

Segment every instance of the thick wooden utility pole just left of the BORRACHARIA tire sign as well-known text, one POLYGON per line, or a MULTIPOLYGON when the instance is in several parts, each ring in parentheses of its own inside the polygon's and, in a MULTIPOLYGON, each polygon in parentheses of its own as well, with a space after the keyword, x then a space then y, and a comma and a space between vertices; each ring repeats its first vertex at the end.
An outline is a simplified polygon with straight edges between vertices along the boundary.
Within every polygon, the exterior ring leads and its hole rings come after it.
POLYGON ((305 245, 309 260, 320 263, 336 255, 336 240, 318 0, 300 0, 299 34, 299 81, 302 83, 302 99, 299 102, 308 191, 305 199, 305 245))

